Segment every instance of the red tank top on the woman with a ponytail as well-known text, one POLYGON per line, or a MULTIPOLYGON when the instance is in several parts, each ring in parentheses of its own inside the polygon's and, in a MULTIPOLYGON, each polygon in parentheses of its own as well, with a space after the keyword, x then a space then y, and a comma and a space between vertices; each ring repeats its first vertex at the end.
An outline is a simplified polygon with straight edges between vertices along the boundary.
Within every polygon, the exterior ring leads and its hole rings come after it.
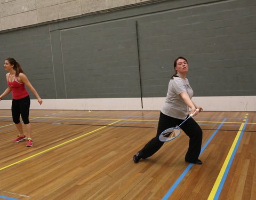
POLYGON ((7 84, 12 89, 12 98, 13 99, 15 99, 15 100, 22 99, 22 98, 25 98, 29 95, 28 91, 25 88, 25 84, 20 83, 17 79, 17 76, 15 76, 13 82, 10 82, 9 78, 10 78, 10 74, 9 74, 9 77, 8 77, 7 84))

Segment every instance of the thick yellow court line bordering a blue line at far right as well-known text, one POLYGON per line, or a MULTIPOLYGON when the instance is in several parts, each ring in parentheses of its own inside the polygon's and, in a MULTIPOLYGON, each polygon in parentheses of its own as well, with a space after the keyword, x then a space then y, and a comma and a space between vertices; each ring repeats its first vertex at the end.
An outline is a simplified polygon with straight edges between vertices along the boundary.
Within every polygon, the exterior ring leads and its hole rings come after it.
MULTIPOLYGON (((244 127, 245 124, 246 124, 246 123, 242 123, 241 126, 240 126, 240 128, 239 128, 239 130, 243 130, 243 127, 244 127)), ((228 152, 228 155, 227 155, 227 157, 226 157, 226 159, 225 159, 224 164, 223 164, 222 167, 221 167, 220 173, 219 173, 219 175, 218 175, 218 177, 217 177, 217 179, 216 179, 216 181, 215 181, 215 183, 214 183, 214 185, 213 185, 212 191, 211 191, 209 197, 207 198, 207 200, 212 200, 212 199, 214 199, 214 197, 215 197, 215 195, 216 195, 216 193, 217 193, 217 190, 218 190, 218 188, 219 188, 219 186, 220 186, 220 182, 221 182, 221 180, 222 180, 223 174, 225 173, 225 171, 226 171, 226 169, 227 169, 228 162, 229 162, 229 160, 230 160, 230 158, 231 158, 231 155, 233 154, 233 151, 234 151, 234 149, 235 149, 235 147, 236 147, 236 143, 237 143, 237 141, 238 141, 238 138, 239 138, 240 135, 241 135, 241 132, 242 132, 242 131, 238 131, 238 132, 237 132, 236 138, 235 138, 235 140, 233 141, 233 144, 232 144, 232 146, 231 146, 231 148, 230 148, 230 150, 229 150, 229 152, 228 152)))

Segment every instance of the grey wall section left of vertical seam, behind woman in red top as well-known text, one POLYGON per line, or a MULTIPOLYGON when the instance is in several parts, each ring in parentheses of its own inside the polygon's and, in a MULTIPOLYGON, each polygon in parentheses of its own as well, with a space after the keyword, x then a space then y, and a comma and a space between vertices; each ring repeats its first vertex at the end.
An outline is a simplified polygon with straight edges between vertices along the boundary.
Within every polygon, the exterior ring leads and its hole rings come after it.
MULTIPOLYGON (((6 87, 4 60, 14 57, 43 98, 55 97, 51 39, 47 25, 0 34, 1 92, 6 87)), ((30 92, 30 91, 29 91, 30 92)), ((8 95, 5 99, 11 99, 8 95)))

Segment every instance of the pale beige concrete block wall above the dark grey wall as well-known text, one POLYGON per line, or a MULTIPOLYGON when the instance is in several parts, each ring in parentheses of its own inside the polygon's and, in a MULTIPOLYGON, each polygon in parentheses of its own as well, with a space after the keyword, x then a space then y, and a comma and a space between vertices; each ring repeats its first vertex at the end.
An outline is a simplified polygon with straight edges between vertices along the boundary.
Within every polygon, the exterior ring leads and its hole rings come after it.
POLYGON ((150 0, 0 0, 0 31, 150 0))

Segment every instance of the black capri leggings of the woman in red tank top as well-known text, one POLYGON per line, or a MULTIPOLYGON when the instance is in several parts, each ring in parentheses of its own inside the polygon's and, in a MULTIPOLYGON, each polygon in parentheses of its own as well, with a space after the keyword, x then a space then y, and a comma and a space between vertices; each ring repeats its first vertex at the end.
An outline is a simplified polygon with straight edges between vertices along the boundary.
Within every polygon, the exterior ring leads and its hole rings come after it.
POLYGON ((29 124, 29 95, 22 99, 12 99, 12 120, 15 124, 20 123, 20 115, 24 124, 29 124))

